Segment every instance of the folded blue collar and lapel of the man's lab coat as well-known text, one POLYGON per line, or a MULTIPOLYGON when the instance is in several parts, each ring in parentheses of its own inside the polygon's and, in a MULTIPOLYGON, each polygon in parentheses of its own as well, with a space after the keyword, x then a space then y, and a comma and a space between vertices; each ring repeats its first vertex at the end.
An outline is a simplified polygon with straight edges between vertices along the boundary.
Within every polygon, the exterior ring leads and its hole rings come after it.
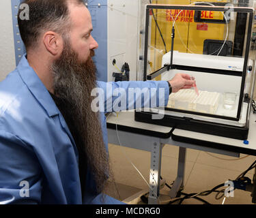
POLYGON ((26 56, 27 54, 23 55, 23 58, 16 68, 18 74, 20 74, 20 78, 27 85, 33 96, 38 99, 38 102, 40 102, 42 107, 46 110, 48 116, 59 114, 59 110, 57 109, 53 98, 38 77, 38 74, 36 74, 33 68, 29 65, 26 56))

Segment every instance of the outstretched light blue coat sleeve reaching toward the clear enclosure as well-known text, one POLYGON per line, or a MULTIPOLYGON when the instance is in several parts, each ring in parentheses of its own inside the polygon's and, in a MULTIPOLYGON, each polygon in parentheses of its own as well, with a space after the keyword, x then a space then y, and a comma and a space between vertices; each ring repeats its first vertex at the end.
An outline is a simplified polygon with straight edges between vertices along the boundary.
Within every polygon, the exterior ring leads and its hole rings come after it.
POLYGON ((167 106, 169 100, 169 85, 167 81, 130 81, 130 82, 100 82, 100 91, 94 99, 102 112, 119 112, 138 108, 156 108, 167 106), (104 99, 102 99, 104 96, 104 99), (101 99, 101 101, 100 101, 101 99), (104 102, 99 104, 98 102, 104 102))

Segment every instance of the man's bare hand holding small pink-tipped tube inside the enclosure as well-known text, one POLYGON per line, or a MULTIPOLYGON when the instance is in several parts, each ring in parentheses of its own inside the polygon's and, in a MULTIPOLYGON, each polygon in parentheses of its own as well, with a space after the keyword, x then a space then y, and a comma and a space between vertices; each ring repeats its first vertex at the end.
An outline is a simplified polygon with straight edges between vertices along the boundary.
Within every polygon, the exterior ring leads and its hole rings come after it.
POLYGON ((171 84, 173 93, 177 93, 180 89, 190 89, 197 87, 195 79, 192 80, 188 74, 176 74, 171 80, 168 81, 171 84))

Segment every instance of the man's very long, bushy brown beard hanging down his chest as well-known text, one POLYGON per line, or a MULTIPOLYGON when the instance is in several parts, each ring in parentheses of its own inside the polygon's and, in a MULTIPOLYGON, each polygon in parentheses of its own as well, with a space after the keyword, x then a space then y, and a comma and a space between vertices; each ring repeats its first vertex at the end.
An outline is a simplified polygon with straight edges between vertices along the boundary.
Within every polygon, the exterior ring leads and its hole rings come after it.
MULTIPOLYGON (((91 56, 94 52, 91 51, 91 56)), ((61 57, 51 66, 55 95, 67 102, 74 125, 84 144, 89 168, 94 174, 98 193, 104 191, 110 176, 109 155, 106 153, 100 125, 100 114, 91 110, 92 89, 96 88, 96 67, 91 57, 86 62, 66 43, 61 57)), ((81 184, 85 185, 85 184, 81 184)))

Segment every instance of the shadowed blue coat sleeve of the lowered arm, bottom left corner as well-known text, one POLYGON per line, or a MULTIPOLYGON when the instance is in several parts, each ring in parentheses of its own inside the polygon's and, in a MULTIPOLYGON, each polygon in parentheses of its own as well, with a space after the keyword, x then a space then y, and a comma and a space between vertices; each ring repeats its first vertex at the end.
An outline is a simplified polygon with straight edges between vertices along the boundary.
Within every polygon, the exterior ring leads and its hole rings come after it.
POLYGON ((0 204, 39 204, 40 166, 33 149, 0 131, 0 204))

